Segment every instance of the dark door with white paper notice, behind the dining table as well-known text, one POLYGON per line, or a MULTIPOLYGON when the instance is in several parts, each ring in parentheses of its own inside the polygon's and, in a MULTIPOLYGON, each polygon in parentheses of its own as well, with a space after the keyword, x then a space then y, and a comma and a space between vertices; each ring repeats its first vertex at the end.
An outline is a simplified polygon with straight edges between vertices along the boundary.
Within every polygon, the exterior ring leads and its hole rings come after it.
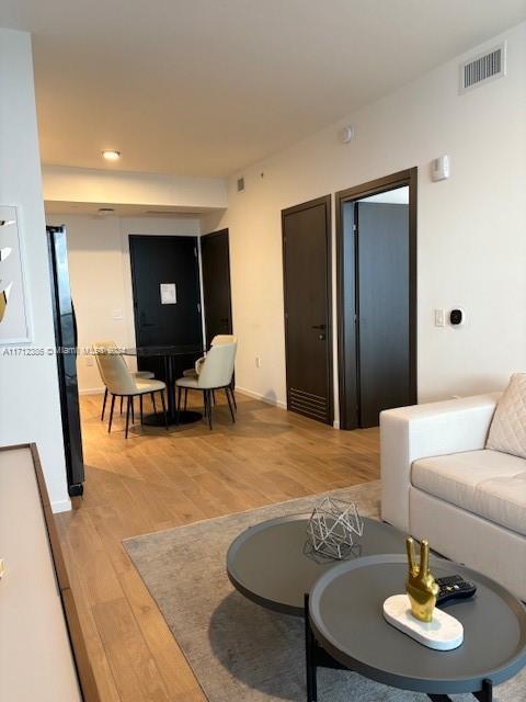
MULTIPOLYGON (((129 256, 137 346, 202 344, 197 239, 130 235, 129 256)), ((174 373, 193 362, 194 356, 178 356, 174 373)), ((164 377, 161 359, 139 356, 138 365, 164 377)))

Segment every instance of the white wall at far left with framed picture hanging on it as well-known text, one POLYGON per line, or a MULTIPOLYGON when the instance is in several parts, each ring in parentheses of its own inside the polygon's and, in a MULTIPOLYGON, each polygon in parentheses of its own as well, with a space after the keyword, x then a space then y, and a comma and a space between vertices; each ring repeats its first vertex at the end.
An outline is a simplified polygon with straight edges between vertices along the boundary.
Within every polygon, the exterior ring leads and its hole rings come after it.
MULTIPOLYGON (((54 348, 31 38, 0 29, 0 202, 20 205, 35 348, 54 348)), ((21 347, 23 348, 23 347, 21 347)), ((57 361, 0 349, 0 444, 35 441, 55 510, 68 509, 57 361)))

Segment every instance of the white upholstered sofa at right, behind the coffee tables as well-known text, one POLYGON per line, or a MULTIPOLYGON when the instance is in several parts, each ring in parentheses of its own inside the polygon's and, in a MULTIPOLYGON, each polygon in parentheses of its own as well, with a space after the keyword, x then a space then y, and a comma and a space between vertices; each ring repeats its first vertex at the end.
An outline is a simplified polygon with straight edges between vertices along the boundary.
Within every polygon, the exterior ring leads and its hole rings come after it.
POLYGON ((381 518, 526 600, 526 460, 484 449, 499 396, 381 412, 381 518))

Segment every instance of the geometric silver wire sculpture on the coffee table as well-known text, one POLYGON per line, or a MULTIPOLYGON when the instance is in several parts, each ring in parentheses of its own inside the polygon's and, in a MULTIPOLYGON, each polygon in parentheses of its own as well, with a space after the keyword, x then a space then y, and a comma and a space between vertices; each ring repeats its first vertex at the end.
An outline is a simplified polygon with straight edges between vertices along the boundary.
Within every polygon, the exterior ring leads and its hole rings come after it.
POLYGON ((355 541, 363 536, 364 520, 356 502, 325 497, 315 507, 307 533, 317 553, 341 561, 348 555, 355 541))

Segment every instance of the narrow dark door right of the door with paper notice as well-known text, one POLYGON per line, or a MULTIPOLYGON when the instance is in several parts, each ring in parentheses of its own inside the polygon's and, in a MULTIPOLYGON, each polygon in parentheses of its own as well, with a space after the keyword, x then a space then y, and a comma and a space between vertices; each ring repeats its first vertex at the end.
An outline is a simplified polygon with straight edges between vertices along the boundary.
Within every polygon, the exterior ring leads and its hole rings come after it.
POLYGON ((218 333, 232 333, 228 229, 201 237, 206 346, 218 333))

